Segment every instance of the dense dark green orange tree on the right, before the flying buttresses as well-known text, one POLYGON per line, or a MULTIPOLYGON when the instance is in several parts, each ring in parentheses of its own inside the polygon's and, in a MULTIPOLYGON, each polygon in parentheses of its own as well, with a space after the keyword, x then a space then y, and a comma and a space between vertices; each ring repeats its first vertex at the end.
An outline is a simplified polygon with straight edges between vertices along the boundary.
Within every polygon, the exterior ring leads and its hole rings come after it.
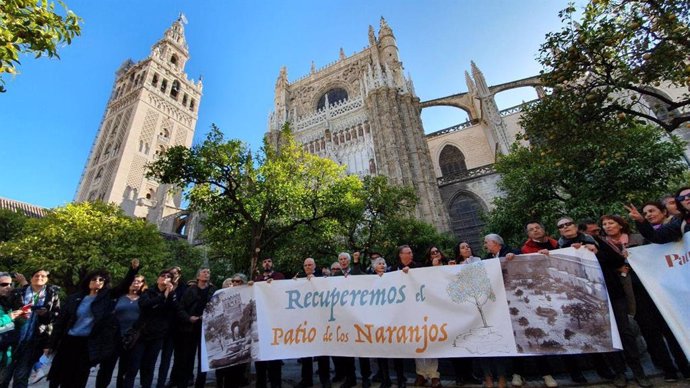
POLYGON ((518 140, 529 144, 516 142, 495 165, 505 196, 494 201, 486 230, 514 246, 526 238, 527 221, 555 233, 564 215, 620 214, 623 204, 659 198, 686 170, 684 143, 675 136, 612 112, 589 120, 588 112, 570 109, 577 99, 554 93, 528 108, 518 140))

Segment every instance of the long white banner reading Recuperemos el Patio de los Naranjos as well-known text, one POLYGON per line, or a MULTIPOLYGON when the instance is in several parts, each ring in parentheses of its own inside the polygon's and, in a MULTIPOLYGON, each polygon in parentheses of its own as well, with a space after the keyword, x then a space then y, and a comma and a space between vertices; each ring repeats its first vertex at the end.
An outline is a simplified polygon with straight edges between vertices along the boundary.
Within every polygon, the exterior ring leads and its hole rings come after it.
MULTIPOLYGON (((501 260, 242 287, 253 294, 242 296, 242 303, 251 306, 244 301, 255 298, 258 313, 258 335, 245 342, 258 345, 254 358, 260 360, 486 357, 621 348, 591 252, 568 248, 549 256, 501 260)), ((244 324, 238 320, 237 302, 220 301, 233 292, 217 294, 224 296, 214 297, 212 316, 204 315, 211 369, 246 360, 237 356, 247 353, 238 345, 221 346, 229 341, 223 335, 236 332, 235 344, 252 327, 246 319, 244 324), (221 308, 237 311, 228 319, 221 308), (218 326, 210 337, 210 324, 235 325, 237 330, 218 326)))

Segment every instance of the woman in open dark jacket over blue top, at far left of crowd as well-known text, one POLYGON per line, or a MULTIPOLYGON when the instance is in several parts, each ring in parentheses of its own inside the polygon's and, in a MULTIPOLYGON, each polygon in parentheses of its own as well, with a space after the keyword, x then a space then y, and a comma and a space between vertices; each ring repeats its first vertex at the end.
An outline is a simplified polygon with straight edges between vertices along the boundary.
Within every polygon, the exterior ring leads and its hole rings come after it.
POLYGON ((30 310, 26 320, 20 318, 19 344, 12 352, 12 363, 2 371, 0 387, 27 386, 31 368, 49 347, 53 324, 60 313, 59 287, 48 284, 48 271, 38 269, 30 283, 15 289, 10 297, 14 310, 30 310))

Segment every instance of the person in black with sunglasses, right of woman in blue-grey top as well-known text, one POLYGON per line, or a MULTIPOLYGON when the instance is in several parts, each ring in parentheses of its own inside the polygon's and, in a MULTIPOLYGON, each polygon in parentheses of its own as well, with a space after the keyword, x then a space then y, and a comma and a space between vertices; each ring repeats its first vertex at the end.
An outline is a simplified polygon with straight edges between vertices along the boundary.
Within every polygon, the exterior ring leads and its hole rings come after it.
POLYGON ((156 285, 149 287, 139 297, 139 319, 135 327, 140 334, 131 351, 124 388, 134 387, 134 380, 140 371, 140 386, 151 388, 156 359, 177 317, 177 296, 172 278, 169 270, 161 271, 156 285))

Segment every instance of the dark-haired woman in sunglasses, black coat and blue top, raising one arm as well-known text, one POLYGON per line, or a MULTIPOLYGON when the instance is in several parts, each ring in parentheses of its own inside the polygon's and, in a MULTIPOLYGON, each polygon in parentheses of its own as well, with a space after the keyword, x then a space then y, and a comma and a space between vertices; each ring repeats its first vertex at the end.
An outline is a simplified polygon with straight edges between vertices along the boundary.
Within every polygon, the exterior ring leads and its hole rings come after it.
MULTIPOLYGON (((123 284, 129 285, 138 270, 139 261, 134 259, 123 284)), ((121 288, 118 286, 117 292, 121 288)), ((67 298, 53 327, 50 349, 55 357, 48 372, 51 387, 85 387, 91 367, 116 353, 116 289, 110 288, 110 273, 99 269, 87 273, 79 291, 67 298)))

